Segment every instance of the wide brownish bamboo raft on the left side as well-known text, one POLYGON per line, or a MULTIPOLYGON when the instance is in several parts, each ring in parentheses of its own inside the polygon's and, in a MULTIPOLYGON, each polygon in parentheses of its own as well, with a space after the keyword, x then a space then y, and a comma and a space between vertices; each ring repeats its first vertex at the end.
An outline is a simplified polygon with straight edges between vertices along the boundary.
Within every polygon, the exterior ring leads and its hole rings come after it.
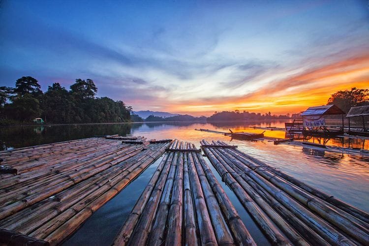
POLYGON ((0 244, 61 243, 171 142, 122 141, 132 139, 99 136, 0 152, 1 165, 18 173, 0 174, 0 244))

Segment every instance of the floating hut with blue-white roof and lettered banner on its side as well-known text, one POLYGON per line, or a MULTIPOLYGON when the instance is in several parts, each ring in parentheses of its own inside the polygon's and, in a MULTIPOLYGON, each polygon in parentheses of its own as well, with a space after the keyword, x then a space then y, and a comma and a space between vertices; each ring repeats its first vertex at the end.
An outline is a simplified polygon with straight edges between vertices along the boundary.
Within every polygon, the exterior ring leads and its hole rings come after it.
POLYGON ((313 136, 337 136, 343 134, 343 115, 345 113, 336 105, 310 107, 301 114, 303 117, 303 134, 313 136), (325 117, 328 115, 341 115, 342 125, 326 125, 325 117))

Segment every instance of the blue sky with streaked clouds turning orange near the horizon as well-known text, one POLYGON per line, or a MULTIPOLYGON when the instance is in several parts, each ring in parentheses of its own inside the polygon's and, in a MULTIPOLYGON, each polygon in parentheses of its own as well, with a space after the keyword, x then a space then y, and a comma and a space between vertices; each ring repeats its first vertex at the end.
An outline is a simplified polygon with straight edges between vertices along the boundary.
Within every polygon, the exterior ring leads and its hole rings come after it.
POLYGON ((135 111, 298 113, 369 89, 369 1, 0 0, 0 86, 92 79, 135 111))

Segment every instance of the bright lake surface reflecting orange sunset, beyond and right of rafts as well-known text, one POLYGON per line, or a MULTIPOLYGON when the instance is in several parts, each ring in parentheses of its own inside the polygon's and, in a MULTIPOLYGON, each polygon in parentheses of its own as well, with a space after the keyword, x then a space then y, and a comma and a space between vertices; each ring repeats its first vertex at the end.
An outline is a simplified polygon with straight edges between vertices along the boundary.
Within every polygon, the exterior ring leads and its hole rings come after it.
MULTIPOLYGON (((214 122, 214 123, 145 123, 132 131, 132 135, 145 135, 149 138, 177 138, 193 142, 197 148, 200 140, 222 140, 239 146, 241 151, 257 157, 268 164, 293 175, 307 184, 337 196, 338 198, 369 211, 367 197, 369 197, 369 158, 358 155, 332 153, 328 151, 312 150, 308 147, 290 145, 274 145, 271 140, 243 141, 232 139, 222 134, 195 131, 194 129, 210 129, 222 132, 255 132, 264 129, 253 129, 250 126, 284 127, 284 121, 273 122, 214 122), (339 185, 337 181, 339 180, 339 185)), ((265 136, 284 138, 285 132, 265 130, 265 136)), ((312 140, 309 140, 312 141, 312 140)), ((362 142, 351 139, 352 146, 362 142)), ((365 148, 369 149, 369 141, 365 148)), ((315 140, 316 143, 316 140, 315 140)), ((348 144, 345 140, 345 146, 348 144)), ((329 140, 328 145, 341 146, 339 140, 329 140)))

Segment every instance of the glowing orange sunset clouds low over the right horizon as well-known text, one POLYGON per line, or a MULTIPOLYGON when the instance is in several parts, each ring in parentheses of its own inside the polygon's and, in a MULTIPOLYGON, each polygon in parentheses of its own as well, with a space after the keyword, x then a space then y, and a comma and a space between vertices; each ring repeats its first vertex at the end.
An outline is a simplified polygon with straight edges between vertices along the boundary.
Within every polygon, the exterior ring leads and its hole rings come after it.
POLYGON ((247 110, 272 114, 297 113, 324 105, 331 94, 352 87, 369 89, 369 53, 312 68, 273 81, 256 92, 238 97, 199 99, 173 103, 169 112, 211 115, 214 111, 247 110))

